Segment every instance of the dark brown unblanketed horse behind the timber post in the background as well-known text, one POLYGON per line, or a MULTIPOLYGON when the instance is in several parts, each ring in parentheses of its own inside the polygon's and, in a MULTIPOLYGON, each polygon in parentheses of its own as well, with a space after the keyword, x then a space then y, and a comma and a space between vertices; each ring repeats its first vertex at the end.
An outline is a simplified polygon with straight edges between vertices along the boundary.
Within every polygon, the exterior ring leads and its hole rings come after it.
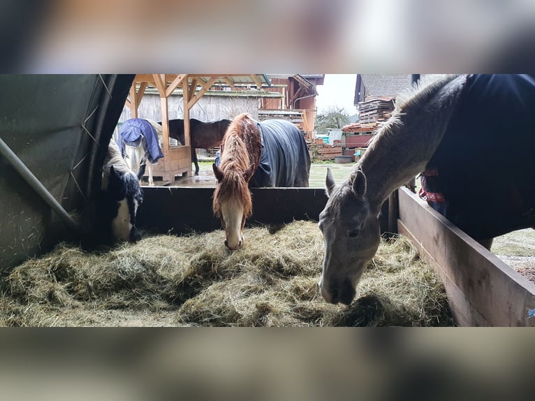
MULTIPOLYGON (((221 119, 214 122, 202 122, 194 118, 189 120, 191 162, 195 163, 195 175, 199 174, 196 149, 209 149, 210 147, 219 146, 229 125, 230 119, 221 119)), ((169 137, 175 138, 179 143, 184 143, 183 119, 169 120, 169 137)))

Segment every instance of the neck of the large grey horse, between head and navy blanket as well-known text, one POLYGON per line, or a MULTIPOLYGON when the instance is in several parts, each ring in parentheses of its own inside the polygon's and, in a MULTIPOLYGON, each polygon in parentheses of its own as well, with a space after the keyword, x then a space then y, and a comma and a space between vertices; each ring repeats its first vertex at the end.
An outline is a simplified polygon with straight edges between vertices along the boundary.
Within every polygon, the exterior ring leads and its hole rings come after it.
POLYGON ((466 75, 448 76, 420 85, 409 99, 397 101, 396 110, 379 129, 357 169, 367 178, 372 212, 379 213, 386 198, 425 170, 457 109, 466 75))

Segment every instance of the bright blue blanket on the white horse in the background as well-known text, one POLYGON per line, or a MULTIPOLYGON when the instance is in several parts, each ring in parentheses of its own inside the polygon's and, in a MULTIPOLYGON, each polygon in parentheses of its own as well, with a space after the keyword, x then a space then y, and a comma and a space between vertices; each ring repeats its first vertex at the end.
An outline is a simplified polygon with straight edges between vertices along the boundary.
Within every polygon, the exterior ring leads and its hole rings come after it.
POLYGON ((119 145, 121 154, 124 156, 123 142, 126 145, 138 147, 140 146, 142 136, 147 143, 147 159, 151 163, 156 163, 158 159, 163 157, 163 153, 158 143, 158 134, 146 119, 131 118, 122 124, 119 131, 119 138, 117 139, 117 145, 119 145))

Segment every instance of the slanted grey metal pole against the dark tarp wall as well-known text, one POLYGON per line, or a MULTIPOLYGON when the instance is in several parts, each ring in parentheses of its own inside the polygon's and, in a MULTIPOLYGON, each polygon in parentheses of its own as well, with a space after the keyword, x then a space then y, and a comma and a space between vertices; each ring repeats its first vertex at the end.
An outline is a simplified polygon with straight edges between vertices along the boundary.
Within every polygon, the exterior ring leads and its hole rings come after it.
POLYGON ((29 168, 22 163, 22 161, 18 158, 18 156, 13 153, 12 150, 8 147, 8 145, 3 142, 2 138, 0 138, 0 154, 3 156, 4 159, 10 163, 10 165, 19 173, 19 175, 22 177, 24 181, 27 182, 27 184, 31 187, 31 189, 34 189, 38 196, 41 196, 43 201, 49 205, 54 212, 56 212, 59 217, 64 221, 64 223, 68 226, 68 228, 71 228, 72 231, 75 231, 76 233, 80 232, 80 228, 78 224, 73 220, 73 218, 66 212, 66 210, 56 201, 54 196, 50 194, 50 192, 41 184, 41 182, 36 178, 36 176, 31 173, 29 168))

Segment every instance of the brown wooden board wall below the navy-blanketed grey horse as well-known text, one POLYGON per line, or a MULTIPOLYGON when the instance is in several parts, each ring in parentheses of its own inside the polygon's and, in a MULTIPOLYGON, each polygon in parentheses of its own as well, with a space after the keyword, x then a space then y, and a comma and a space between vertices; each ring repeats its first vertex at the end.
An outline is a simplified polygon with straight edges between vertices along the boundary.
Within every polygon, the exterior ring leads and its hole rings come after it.
POLYGON ((478 244, 409 189, 398 190, 400 233, 440 275, 460 326, 535 326, 535 284, 478 244))

